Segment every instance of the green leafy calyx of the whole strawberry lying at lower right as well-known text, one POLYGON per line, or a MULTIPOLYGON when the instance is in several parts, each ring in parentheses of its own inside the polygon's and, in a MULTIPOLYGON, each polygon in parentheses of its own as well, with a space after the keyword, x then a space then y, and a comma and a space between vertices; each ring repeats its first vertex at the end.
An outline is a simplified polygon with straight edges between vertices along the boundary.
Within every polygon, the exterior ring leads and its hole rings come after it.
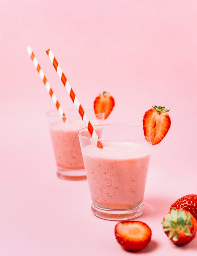
POLYGON ((170 213, 166 214, 162 225, 164 232, 169 232, 168 238, 177 241, 180 231, 183 231, 186 236, 191 236, 189 227, 192 227, 192 223, 190 217, 190 213, 185 213, 182 209, 177 211, 176 208, 173 208, 170 213))

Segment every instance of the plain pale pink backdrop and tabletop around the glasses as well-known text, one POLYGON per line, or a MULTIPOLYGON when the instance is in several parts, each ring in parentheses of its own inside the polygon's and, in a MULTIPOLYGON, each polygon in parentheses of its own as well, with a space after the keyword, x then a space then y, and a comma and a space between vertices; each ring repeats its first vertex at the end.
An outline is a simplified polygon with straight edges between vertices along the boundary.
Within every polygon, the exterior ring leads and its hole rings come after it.
POLYGON ((117 222, 91 213, 87 182, 55 176, 45 116, 54 107, 27 45, 63 107, 72 104, 49 48, 82 106, 111 92, 109 122, 142 124, 153 104, 170 108, 172 126, 153 147, 139 218, 153 236, 139 254, 196 255, 197 238, 175 247, 160 223, 177 198, 197 194, 197 1, 1 0, 0 9, 0 255, 129 254, 115 240, 117 222))

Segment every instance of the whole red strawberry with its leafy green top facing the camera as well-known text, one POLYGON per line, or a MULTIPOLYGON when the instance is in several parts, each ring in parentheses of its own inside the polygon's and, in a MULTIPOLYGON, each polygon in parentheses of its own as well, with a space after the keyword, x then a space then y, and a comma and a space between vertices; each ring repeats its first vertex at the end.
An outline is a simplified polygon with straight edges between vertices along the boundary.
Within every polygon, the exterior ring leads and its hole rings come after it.
POLYGON ((164 233, 175 245, 186 245, 196 236, 197 222, 183 209, 171 209, 162 222, 164 233))

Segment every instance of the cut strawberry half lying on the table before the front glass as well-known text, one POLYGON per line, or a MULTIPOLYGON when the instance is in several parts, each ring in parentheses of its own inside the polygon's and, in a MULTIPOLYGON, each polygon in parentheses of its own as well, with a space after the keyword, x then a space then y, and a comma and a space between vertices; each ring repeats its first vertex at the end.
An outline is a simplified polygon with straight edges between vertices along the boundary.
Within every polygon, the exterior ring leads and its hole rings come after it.
POLYGON ((151 240, 151 229, 142 221, 122 221, 115 226, 117 242, 127 251, 139 251, 151 240))

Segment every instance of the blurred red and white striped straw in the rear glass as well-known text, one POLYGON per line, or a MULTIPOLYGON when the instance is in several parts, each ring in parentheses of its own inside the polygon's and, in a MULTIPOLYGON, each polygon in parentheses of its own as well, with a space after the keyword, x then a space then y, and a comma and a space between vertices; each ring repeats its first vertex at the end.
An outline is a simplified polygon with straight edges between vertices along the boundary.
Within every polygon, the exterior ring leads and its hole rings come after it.
POLYGON ((43 83, 45 85, 45 88, 46 88, 47 92, 49 92, 49 94, 50 94, 50 96, 51 96, 51 98, 53 100, 53 103, 55 104, 56 108, 58 109, 58 111, 60 113, 60 116, 63 116, 62 120, 65 122, 66 121, 65 113, 64 113, 62 107, 60 106, 60 103, 57 100, 55 94, 53 93, 51 85, 47 81, 46 76, 44 75, 44 72, 43 72, 42 68, 40 67, 40 65, 38 63, 38 60, 35 57, 35 55, 34 55, 34 53, 33 53, 33 51, 32 51, 30 46, 27 46, 27 52, 28 52, 29 56, 31 57, 31 59, 33 61, 33 65, 37 69, 37 71, 38 71, 38 73, 40 75, 40 78, 41 78, 41 80, 43 81, 43 83))

